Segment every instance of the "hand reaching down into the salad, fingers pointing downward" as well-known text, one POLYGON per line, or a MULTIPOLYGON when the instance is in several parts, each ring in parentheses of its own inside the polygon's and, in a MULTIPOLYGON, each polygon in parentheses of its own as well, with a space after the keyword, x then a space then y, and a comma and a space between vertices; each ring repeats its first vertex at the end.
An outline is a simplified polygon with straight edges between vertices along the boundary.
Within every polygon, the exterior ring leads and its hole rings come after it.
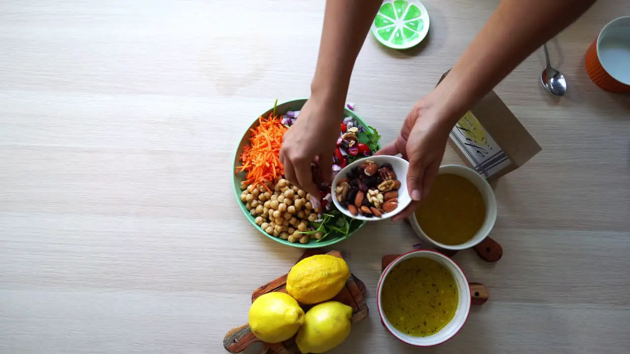
POLYGON ((311 163, 316 163, 324 181, 330 183, 333 154, 340 134, 341 105, 309 98, 295 124, 284 134, 280 162, 285 177, 294 185, 319 199, 319 188, 313 181, 311 163))

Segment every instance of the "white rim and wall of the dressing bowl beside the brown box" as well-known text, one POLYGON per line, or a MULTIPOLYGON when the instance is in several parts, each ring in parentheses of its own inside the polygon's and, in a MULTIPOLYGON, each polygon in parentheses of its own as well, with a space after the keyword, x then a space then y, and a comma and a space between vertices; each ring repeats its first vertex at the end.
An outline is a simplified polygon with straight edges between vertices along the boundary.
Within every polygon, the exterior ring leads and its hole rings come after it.
POLYGON ((447 164, 440 166, 440 171, 438 174, 457 174, 458 176, 465 177, 467 180, 471 181, 473 185, 477 187, 477 189, 481 192, 481 196, 483 197, 483 202, 486 205, 486 219, 484 220, 481 228, 473 238, 469 239, 465 243, 462 244, 444 244, 435 241, 431 237, 427 236, 424 231, 420 228, 420 224, 418 224, 418 220, 416 219, 416 214, 411 214, 409 217, 409 222, 411 224, 411 228, 413 231, 423 239, 423 241, 427 241, 438 249, 450 249, 454 251, 459 251, 461 249, 471 248, 479 244, 483 239, 488 237, 490 231, 495 226, 496 222, 496 199, 495 193, 492 191, 492 188, 488 181, 486 181, 481 174, 477 173, 472 168, 467 168, 466 166, 462 166, 459 164, 447 164))

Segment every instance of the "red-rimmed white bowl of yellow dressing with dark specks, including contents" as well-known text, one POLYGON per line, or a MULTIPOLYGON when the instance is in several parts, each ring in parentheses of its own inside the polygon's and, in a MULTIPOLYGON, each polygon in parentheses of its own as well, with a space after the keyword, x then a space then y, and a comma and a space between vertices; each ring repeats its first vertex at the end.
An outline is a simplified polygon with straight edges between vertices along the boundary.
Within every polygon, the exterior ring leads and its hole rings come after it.
POLYGON ((468 280, 442 253, 418 249, 392 261, 377 289, 381 322, 396 338, 433 346, 452 338, 471 307, 468 280))

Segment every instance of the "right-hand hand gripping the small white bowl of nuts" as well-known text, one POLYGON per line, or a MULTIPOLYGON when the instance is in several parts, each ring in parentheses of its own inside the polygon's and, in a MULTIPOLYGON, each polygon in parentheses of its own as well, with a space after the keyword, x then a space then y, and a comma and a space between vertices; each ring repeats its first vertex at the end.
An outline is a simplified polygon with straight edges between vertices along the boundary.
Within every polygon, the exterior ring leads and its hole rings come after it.
POLYGON ((392 220, 409 217, 428 195, 452 128, 448 122, 450 120, 441 117, 430 101, 423 98, 405 118, 398 138, 376 152, 377 155, 401 154, 409 161, 407 188, 413 202, 392 220))

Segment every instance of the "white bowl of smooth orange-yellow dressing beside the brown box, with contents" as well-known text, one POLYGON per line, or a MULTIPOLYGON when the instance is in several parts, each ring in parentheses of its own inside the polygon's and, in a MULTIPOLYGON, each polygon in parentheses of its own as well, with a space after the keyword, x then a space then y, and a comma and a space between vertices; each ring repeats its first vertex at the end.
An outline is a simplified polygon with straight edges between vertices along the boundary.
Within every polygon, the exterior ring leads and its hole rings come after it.
POLYGON ((440 166, 431 190, 409 221, 416 235, 438 249, 471 248, 495 226, 495 193, 474 169, 440 166))

